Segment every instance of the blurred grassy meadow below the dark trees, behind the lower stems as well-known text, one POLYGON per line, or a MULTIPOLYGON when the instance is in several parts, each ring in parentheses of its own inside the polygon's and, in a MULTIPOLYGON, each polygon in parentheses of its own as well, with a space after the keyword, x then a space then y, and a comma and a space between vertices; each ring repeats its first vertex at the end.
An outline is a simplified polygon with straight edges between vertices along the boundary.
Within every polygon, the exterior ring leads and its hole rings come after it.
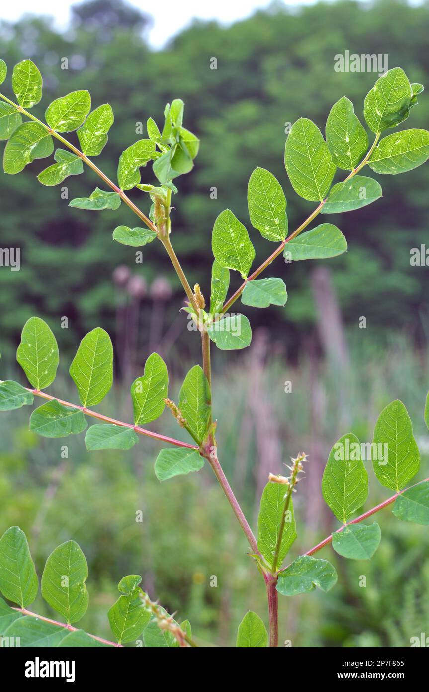
MULTIPOLYGON (((429 440, 423 424, 428 365, 405 340, 390 343, 386 353, 374 353, 365 345, 356 349, 342 407, 347 410, 346 422, 338 403, 337 373, 328 365, 320 368, 316 382, 323 419, 317 430, 309 415, 314 381, 307 358, 298 367, 275 360, 263 368, 263 381, 258 383, 254 354, 250 351, 247 357, 244 370, 225 368, 215 387, 220 459, 256 531, 261 484, 268 471, 282 473, 290 455, 302 448, 309 453, 305 481, 294 497, 298 539, 288 562, 338 526, 320 489, 330 447, 349 429, 362 440, 372 439, 379 410, 395 397, 406 403, 421 449, 417 480, 428 475, 429 440), (283 391, 285 379, 293 382, 288 394, 283 391), (245 404, 249 397, 268 397, 271 408, 265 404, 265 413, 254 410, 245 404), (260 426, 263 415, 269 415, 270 428, 264 420, 260 426), (273 441, 280 448, 275 458, 270 452, 273 441), (266 456, 259 456, 261 449, 266 456)), ((173 382, 173 397, 179 386, 179 381, 173 382)), ((75 396, 61 379, 55 387, 66 399, 67 394, 75 396)), ((126 392, 117 388, 102 408, 107 415, 125 419, 126 392)), ((160 485, 153 472, 158 445, 150 439, 141 439, 128 452, 87 453, 83 435, 43 439, 28 432, 27 421, 28 410, 0 417, 1 531, 18 524, 27 532, 39 574, 56 545, 77 540, 90 574, 90 608, 82 627, 108 637, 106 612, 117 597, 118 581, 128 573, 141 573, 151 597, 171 612, 177 610, 179 619, 189 617, 201 646, 233 646, 248 609, 267 619, 263 580, 245 554, 245 538, 209 468, 160 485), (140 512, 142 521, 137 521, 140 512)), ((168 412, 159 429, 175 436, 183 432, 168 412)), ((372 468, 368 472, 366 509, 390 495, 372 468)), ((290 639, 292 646, 409 646, 410 637, 427 631, 428 531, 400 522, 390 509, 374 520, 381 526, 382 540, 371 561, 347 561, 326 547, 320 556, 332 561, 339 573, 332 592, 280 597, 280 641, 290 639), (361 575, 367 579, 365 588, 359 585, 361 575)), ((33 609, 50 614, 40 598, 33 609)))

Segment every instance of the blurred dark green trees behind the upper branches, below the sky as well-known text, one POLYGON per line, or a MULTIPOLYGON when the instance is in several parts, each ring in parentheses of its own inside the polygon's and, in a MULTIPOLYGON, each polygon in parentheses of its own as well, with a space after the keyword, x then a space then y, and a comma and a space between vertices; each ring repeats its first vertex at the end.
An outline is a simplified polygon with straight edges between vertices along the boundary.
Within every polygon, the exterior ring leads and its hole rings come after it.
MULTIPOLYGON (((34 109, 37 115, 43 115, 50 100, 74 89, 89 89, 95 106, 111 102, 115 125, 99 165, 113 178, 120 153, 138 138, 136 125, 144 127, 149 116, 161 122, 164 104, 177 96, 184 99, 185 125, 198 134, 201 148, 195 170, 180 178, 180 194, 173 201, 173 243, 191 283, 198 280, 204 293, 209 293, 213 221, 229 207, 250 226, 246 190, 256 166, 267 167, 283 183, 291 227, 314 206, 298 198, 287 180, 285 124, 306 116, 324 131, 327 113, 343 93, 363 119, 363 98, 378 75, 336 72, 334 55, 346 49, 387 54, 389 67, 400 65, 412 82, 429 84, 427 3, 415 7, 402 0, 379 0, 368 6, 345 1, 300 10, 274 3, 227 28, 196 21, 160 51, 146 44, 147 21, 146 15, 118 0, 97 0, 77 6, 70 27, 62 33, 40 17, 14 25, 3 22, 0 54, 9 66, 23 57, 39 65, 45 88, 43 106, 34 109), (63 57, 68 58, 67 70, 61 69, 63 57), (217 69, 210 69, 212 57, 217 69), (213 187, 217 199, 210 197, 213 187)), ((401 127, 427 127, 426 92, 419 102, 401 127)), ((75 134, 70 138, 74 140, 75 134)), ((60 186, 41 188, 35 178, 45 165, 36 162, 19 176, 1 175, 1 246, 20 246, 22 264, 20 272, 0 271, 6 343, 17 340, 33 313, 55 320, 68 316, 73 340, 63 334, 63 345, 70 352, 77 337, 96 323, 113 334, 112 273, 118 264, 128 265, 149 286, 167 275, 175 290, 175 300, 167 308, 167 323, 171 322, 182 291, 162 247, 144 248, 147 262, 136 266, 130 248, 111 239, 117 224, 133 224, 132 212, 124 205, 116 212, 100 213, 69 208, 60 186)), ((150 167, 143 171, 143 178, 153 182, 150 167)), ((352 215, 336 215, 350 252, 330 260, 330 268, 347 322, 356 323, 365 315, 380 338, 401 328, 418 339, 426 268, 410 267, 409 253, 426 239, 429 167, 407 176, 381 176, 380 181, 383 199, 352 215)), ((68 179, 69 199, 89 194, 98 183, 89 170, 68 179)), ((149 210, 144 193, 134 191, 132 197, 149 210)), ((265 259, 273 247, 255 230, 251 237, 257 260, 265 259)), ((314 320, 308 266, 299 263, 291 269, 278 260, 273 271, 285 277, 289 302, 285 309, 254 311, 252 319, 254 324, 268 321, 292 349, 314 320)), ((143 323, 150 309, 142 300, 143 323)), ((182 347, 184 339, 179 340, 182 347)), ((191 349, 197 347, 192 343, 191 349)), ((192 354, 195 358, 196 350, 192 354)))

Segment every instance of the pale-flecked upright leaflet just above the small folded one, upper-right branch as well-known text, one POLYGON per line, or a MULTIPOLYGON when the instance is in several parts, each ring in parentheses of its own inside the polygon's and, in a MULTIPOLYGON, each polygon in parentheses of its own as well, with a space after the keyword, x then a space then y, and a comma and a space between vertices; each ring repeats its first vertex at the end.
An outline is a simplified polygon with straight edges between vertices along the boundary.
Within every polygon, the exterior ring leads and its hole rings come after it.
POLYGON ((247 277, 255 257, 254 246, 245 226, 229 209, 220 212, 214 223, 211 248, 221 266, 239 271, 243 279, 247 277))

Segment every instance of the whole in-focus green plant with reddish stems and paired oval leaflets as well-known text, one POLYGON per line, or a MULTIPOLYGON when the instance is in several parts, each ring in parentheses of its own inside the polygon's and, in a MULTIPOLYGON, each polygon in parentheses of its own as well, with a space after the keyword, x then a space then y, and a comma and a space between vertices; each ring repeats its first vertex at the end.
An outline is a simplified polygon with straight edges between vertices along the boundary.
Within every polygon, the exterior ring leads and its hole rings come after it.
MULTIPOLYGON (((0 65, 1 82, 6 79, 6 64, 0 65)), ((332 543, 334 550, 345 558, 367 559, 374 554, 380 541, 376 523, 363 524, 365 518, 393 504, 393 512, 404 521, 429 524, 428 479, 405 489, 419 471, 419 450, 412 435, 408 412, 401 401, 393 401, 380 414, 372 443, 361 444, 352 432, 334 444, 325 473, 322 493, 340 522, 339 528, 321 543, 298 556, 291 564, 285 558, 296 539, 293 493, 305 471, 307 455, 292 458, 287 477, 269 475, 260 501, 258 538, 254 536, 240 504, 222 470, 216 445, 216 411, 211 406, 210 349, 244 349, 251 342, 249 320, 242 313, 231 313, 241 300, 242 306, 284 306, 286 286, 280 277, 262 277, 280 255, 285 256, 281 271, 293 271, 294 262, 321 260, 341 255, 347 241, 341 230, 324 221, 314 225, 319 214, 332 215, 368 205, 381 197, 381 187, 372 177, 361 173, 368 167, 375 174, 399 174, 424 163, 429 156, 429 132, 406 129, 381 136, 397 127, 417 104, 421 84, 410 84, 400 68, 394 68, 376 81, 365 98, 364 115, 372 132, 368 134, 354 113, 352 102, 345 96, 332 107, 326 123, 326 139, 314 122, 301 118, 292 126, 285 145, 285 167, 294 190, 304 199, 316 202, 316 208, 296 230, 289 233, 286 199, 276 178, 263 168, 251 173, 247 190, 251 225, 268 243, 276 244, 267 259, 251 270, 255 251, 247 228, 229 209, 223 211, 213 226, 211 247, 214 262, 211 274, 210 305, 200 286, 192 289, 171 244, 172 195, 178 189, 175 181, 189 173, 200 146, 195 134, 183 126, 184 104, 175 99, 164 110, 164 123, 158 129, 155 121, 147 121, 148 137, 131 143, 117 167, 117 183, 111 181, 93 161, 107 144, 113 125, 109 104, 100 104, 91 111, 88 91, 74 91, 48 105, 45 121, 32 115, 31 108, 41 100, 42 78, 30 60, 17 64, 12 73, 15 98, 0 94, 0 137, 7 140, 3 158, 6 174, 15 175, 28 163, 39 158, 54 157, 54 163, 37 176, 43 185, 59 185, 68 176, 79 175, 88 165, 101 179, 88 197, 73 199, 70 205, 84 210, 117 209, 128 206, 137 216, 137 226, 117 226, 113 241, 140 248, 158 241, 164 246, 187 296, 185 310, 193 320, 193 331, 199 331, 202 343, 202 367, 194 365, 184 379, 178 401, 169 399, 169 376, 162 358, 153 353, 146 361, 144 373, 131 385, 134 419, 122 422, 110 419, 97 407, 111 389, 113 382, 113 347, 102 327, 95 327, 79 345, 70 365, 70 376, 77 388, 79 405, 63 401, 61 392, 46 390, 53 385, 59 363, 57 341, 50 327, 39 317, 32 317, 23 327, 17 361, 25 372, 30 387, 13 381, 0 384, 0 409, 10 410, 31 405, 35 397, 45 402, 30 416, 30 429, 45 437, 65 437, 86 430, 88 450, 133 447, 139 437, 152 437, 164 444, 155 461, 155 474, 162 482, 173 476, 199 471, 204 466, 215 473, 227 501, 245 534, 249 558, 267 586, 269 632, 263 620, 247 612, 238 628, 237 646, 278 646, 278 594, 293 597, 315 588, 324 592, 336 583, 334 567, 313 555, 332 543), (63 133, 76 131, 74 144, 63 133), (54 143, 58 147, 54 153, 54 143), (79 147, 77 147, 79 144, 79 147), (152 174, 141 180, 141 169, 152 163, 152 174), (337 168, 345 171, 345 180, 332 185, 337 168), (156 179, 155 184, 153 181, 156 179), (152 183, 149 182, 152 180, 152 183), (140 190, 140 206, 128 197, 128 190, 140 190), (145 211, 142 211, 144 208, 145 211), (310 226, 309 230, 305 230, 310 226), (303 231, 305 230, 305 233, 303 231), (289 264, 292 263, 292 268, 289 264), (227 297, 229 272, 236 271, 242 283, 227 297), (158 419, 165 407, 189 433, 183 442, 145 428, 158 419), (97 423, 88 429, 88 419, 97 423), (99 424, 100 421, 102 424, 99 424), (364 511, 368 495, 368 473, 364 460, 372 460, 376 478, 393 495, 377 507, 364 511)), ((175 199, 175 198, 174 198, 175 199)), ((30 208, 30 201, 28 201, 30 208)), ((177 202, 174 201, 174 206, 177 202)), ((208 239, 207 239, 208 240, 208 239)), ((150 262, 150 248, 145 248, 150 262)), ((201 277, 206 291, 207 277, 201 277)), ((189 330, 189 338, 195 334, 189 330)), ((426 422, 429 412, 426 410, 426 422)), ((285 457, 293 450, 285 451, 285 457)), ((166 529, 168 530, 168 529, 166 529)), ((50 646, 109 646, 73 628, 86 612, 88 570, 82 550, 69 540, 48 557, 41 576, 41 593, 58 612, 63 623, 35 616, 28 610, 38 590, 38 578, 32 563, 26 537, 21 529, 12 527, 0 541, 0 590, 15 603, 10 607, 1 602, 0 624, 6 640, 21 637, 21 646, 45 641, 50 646)), ((256 578, 258 576, 256 575, 256 578)), ((191 627, 181 625, 157 605, 140 588, 140 576, 129 575, 119 584, 120 597, 108 612, 116 646, 127 642, 145 646, 194 646, 191 627)))

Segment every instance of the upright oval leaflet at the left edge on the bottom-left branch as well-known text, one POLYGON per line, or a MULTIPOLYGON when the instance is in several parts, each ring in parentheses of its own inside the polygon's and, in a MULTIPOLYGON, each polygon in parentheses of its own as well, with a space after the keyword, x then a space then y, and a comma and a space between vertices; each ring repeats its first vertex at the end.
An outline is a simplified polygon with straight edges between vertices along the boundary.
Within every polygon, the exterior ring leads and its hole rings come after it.
POLYGON ((12 603, 27 608, 38 590, 39 579, 26 534, 19 526, 12 526, 0 538, 0 591, 12 603))

